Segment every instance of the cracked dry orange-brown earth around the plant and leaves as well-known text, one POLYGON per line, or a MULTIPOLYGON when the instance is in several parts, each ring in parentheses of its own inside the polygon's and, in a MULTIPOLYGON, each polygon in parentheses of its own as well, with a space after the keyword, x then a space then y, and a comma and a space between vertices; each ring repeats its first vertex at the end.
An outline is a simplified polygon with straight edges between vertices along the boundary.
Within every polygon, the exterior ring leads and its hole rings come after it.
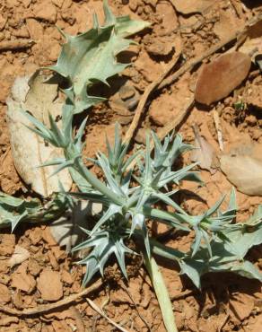
MULTIPOLYGON (((123 134, 127 132, 144 90, 165 71, 179 49, 183 61, 189 61, 230 33, 240 31, 252 17, 262 13, 261 1, 112 0, 109 5, 116 14, 130 14, 151 22, 152 26, 135 35, 136 45, 121 54, 120 60, 131 62, 131 66, 111 79, 110 89, 101 88, 109 101, 90 112, 85 133, 87 157, 93 157, 97 150, 105 150, 105 134, 113 136, 116 121, 122 125, 123 134)), ((92 26, 93 11, 101 20, 100 0, 0 0, 0 188, 5 193, 17 197, 34 195, 13 166, 5 121, 5 100, 14 78, 30 74, 39 66, 54 64, 63 42, 56 25, 70 34, 85 31, 92 26), (3 47, 12 42, 13 49, 3 47)), ((232 45, 216 52, 209 60, 230 47, 232 45)), ((188 71, 175 83, 153 93, 135 133, 135 146, 144 144, 147 128, 161 132, 178 117, 185 100, 193 94, 198 70, 196 67, 194 71, 188 71)), ((247 79, 214 107, 195 104, 180 124, 179 132, 186 142, 194 144, 193 128, 197 126, 200 134, 219 153, 215 111, 220 118, 225 150, 238 141, 262 144, 261 100, 261 74, 258 67, 252 66, 247 79), (237 111, 234 105, 240 99, 245 107, 237 111)), ((190 162, 190 157, 186 156, 183 162, 190 162)), ((213 170, 201 170, 201 176, 205 187, 186 181, 181 185, 183 190, 178 200, 190 214, 203 212, 231 190, 231 183, 215 162, 213 170)), ((261 197, 247 196, 240 191, 237 200, 240 222, 262 203, 261 197)), ((157 232, 165 231, 162 226, 158 227, 157 232)), ((173 248, 188 249, 190 240, 190 235, 178 232, 167 243, 173 248)), ((261 247, 250 250, 249 260, 262 269, 261 257, 261 247)), ((170 292, 179 331, 261 330, 262 295, 257 281, 230 274, 205 275, 203 289, 199 292, 187 277, 179 276, 177 266, 162 260, 158 260, 158 264, 170 292)), ((140 259, 128 261, 127 272, 129 284, 125 284, 118 266, 112 261, 106 268, 103 284, 89 294, 90 299, 128 331, 165 331, 158 302, 140 259)), ((48 225, 22 224, 15 234, 1 230, 1 306, 16 310, 37 309, 41 304, 81 292, 82 277, 83 267, 74 265, 74 258, 57 245, 48 225)), ((1 332, 113 330, 84 297, 57 310, 25 317, 0 310, 1 332)))

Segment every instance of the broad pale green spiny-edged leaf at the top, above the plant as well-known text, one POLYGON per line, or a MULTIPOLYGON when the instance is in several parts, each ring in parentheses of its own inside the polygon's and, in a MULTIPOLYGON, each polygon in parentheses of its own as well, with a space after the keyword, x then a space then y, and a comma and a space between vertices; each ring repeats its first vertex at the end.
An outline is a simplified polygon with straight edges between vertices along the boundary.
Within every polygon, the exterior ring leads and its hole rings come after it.
MULTIPOLYGON (((108 78, 126 68, 126 64, 118 63, 118 53, 128 48, 132 40, 125 39, 149 25, 143 21, 132 21, 128 16, 116 18, 111 13, 107 1, 104 1, 106 20, 99 26, 94 20, 93 28, 77 36, 65 33, 66 42, 57 60, 57 65, 50 66, 69 84, 64 92, 66 113, 70 109, 74 114, 88 109, 104 98, 91 96, 88 90, 94 83, 108 83, 108 78)), ((65 114, 65 109, 64 109, 65 114)))

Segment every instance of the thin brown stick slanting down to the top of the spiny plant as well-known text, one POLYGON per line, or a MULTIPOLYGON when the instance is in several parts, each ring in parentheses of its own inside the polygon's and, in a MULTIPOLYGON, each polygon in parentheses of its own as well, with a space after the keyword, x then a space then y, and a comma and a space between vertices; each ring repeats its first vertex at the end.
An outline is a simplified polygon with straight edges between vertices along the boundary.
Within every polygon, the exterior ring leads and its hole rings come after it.
POLYGON ((162 80, 166 77, 167 74, 170 73, 170 70, 176 65, 176 63, 179 60, 181 54, 181 49, 176 53, 175 57, 171 60, 170 65, 167 67, 165 72, 153 83, 149 84, 147 88, 144 90, 144 94, 142 98, 139 100, 139 103, 137 105, 137 108, 135 109, 135 116, 132 120, 132 123, 130 127, 127 130, 127 133, 124 138, 125 143, 129 143, 131 139, 133 138, 133 135, 135 133, 135 129, 138 126, 138 123, 140 121, 140 118, 142 117, 142 114, 144 112, 144 106, 146 101, 148 100, 148 97, 151 95, 151 93, 158 87, 160 83, 162 83, 162 80))

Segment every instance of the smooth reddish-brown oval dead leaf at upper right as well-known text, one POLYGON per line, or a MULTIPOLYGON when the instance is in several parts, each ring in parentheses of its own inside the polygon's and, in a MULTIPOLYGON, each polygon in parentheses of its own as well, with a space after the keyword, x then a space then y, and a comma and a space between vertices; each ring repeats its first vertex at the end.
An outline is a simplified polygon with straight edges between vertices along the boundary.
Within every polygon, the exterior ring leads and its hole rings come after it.
POLYGON ((196 81, 195 100, 206 105, 227 97, 249 74, 251 59, 231 52, 203 65, 196 81))

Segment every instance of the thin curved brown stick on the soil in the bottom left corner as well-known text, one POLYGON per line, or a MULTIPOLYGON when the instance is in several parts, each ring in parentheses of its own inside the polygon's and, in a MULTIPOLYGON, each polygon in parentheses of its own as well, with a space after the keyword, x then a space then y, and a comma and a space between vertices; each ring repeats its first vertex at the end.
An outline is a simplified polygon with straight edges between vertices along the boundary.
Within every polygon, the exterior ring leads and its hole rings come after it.
POLYGON ((102 285, 102 282, 99 280, 95 284, 92 284, 90 287, 85 288, 80 293, 72 294, 70 296, 65 297, 65 299, 57 301, 55 303, 39 305, 36 308, 30 308, 30 309, 25 309, 25 310, 16 310, 16 309, 6 307, 3 304, 0 304, 0 311, 3 311, 9 315, 14 315, 14 316, 39 315, 39 314, 46 313, 51 310, 56 310, 59 307, 68 305, 69 303, 72 303, 72 302, 78 300, 79 298, 98 290, 101 285, 102 285))

